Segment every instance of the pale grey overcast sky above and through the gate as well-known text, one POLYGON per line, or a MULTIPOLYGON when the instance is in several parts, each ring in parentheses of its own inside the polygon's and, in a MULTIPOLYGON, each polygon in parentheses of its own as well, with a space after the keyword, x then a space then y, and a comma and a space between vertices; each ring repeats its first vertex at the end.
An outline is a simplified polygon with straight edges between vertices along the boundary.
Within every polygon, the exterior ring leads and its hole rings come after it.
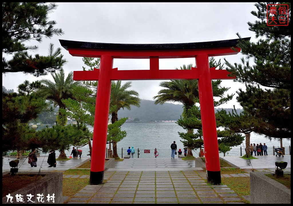
MULTIPOLYGON (((55 49, 61 47, 59 39, 84 42, 121 43, 121 44, 163 44, 207 42, 241 37, 251 37, 255 33, 248 30, 247 22, 258 20, 251 14, 256 11, 255 3, 64 3, 57 2, 57 9, 50 14, 50 20, 55 20, 55 28, 61 28, 64 35, 43 38, 37 53, 48 55, 49 44, 55 49)), ((68 60, 64 65, 66 76, 70 71, 81 71, 84 63, 82 57, 73 57, 62 48, 62 54, 68 60)), ((30 53, 34 55, 34 53, 30 53)), ((243 57, 237 55, 220 56, 215 59, 228 59, 230 63, 240 63, 243 57)), ((224 60, 222 60, 224 62, 224 60)), ((195 65, 194 58, 160 59, 160 69, 180 68, 183 64, 195 65)), ((113 68, 118 69, 149 69, 149 59, 114 59, 113 68)), ((2 85, 6 89, 14 89, 25 80, 35 81, 51 79, 47 76, 34 77, 23 73, 2 74, 2 85)), ((153 100, 161 81, 132 81, 131 89, 139 93, 142 99, 153 100)), ((223 80, 221 86, 231 87, 229 94, 235 93, 243 85, 233 80, 223 80)), ((234 99, 223 108, 241 108, 234 99)))

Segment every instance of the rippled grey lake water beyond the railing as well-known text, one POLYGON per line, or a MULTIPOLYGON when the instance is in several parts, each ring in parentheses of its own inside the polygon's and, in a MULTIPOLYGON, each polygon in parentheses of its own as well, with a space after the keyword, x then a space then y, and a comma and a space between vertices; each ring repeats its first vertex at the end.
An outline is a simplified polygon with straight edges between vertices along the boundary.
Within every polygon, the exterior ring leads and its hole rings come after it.
MULTIPOLYGON (((88 126, 91 131, 93 127, 88 126)), ((135 149, 170 149, 173 141, 176 141, 177 148, 183 149, 183 143, 178 132, 186 132, 175 122, 142 122, 142 123, 124 123, 121 130, 127 132, 127 136, 117 143, 117 148, 128 149, 134 146, 135 149)), ((243 134, 244 136, 244 134, 243 134)), ((280 147, 280 141, 265 138, 264 135, 251 133, 250 142, 253 144, 265 143, 268 147, 280 147)), ((283 139, 283 147, 291 145, 291 139, 283 139)), ((88 147, 86 145, 85 147, 88 147)), ((109 148, 109 144, 106 145, 109 148)), ((236 147, 245 147, 245 139, 241 145, 236 147)))

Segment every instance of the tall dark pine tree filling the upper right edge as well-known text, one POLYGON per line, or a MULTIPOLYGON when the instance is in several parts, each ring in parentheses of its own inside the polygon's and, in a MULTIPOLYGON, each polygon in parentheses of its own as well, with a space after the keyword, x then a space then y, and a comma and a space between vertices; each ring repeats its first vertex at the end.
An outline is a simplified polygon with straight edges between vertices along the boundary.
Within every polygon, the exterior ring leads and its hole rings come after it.
MULTIPOLYGON (((267 26, 267 4, 255 4, 258 11, 251 13, 260 19, 248 22, 258 42, 239 40, 237 46, 247 60, 234 65, 226 61, 226 68, 244 83, 236 97, 243 110, 257 120, 253 132, 271 138, 291 137, 291 3, 289 26, 267 26), (249 62, 253 59, 253 65, 249 62)), ((277 10, 280 6, 277 6, 277 10)), ((239 38, 240 34, 237 33, 239 38)), ((249 128, 249 127, 247 127, 249 128)), ((244 129, 244 128, 243 128, 244 129)), ((282 142, 281 142, 282 146, 282 142)))

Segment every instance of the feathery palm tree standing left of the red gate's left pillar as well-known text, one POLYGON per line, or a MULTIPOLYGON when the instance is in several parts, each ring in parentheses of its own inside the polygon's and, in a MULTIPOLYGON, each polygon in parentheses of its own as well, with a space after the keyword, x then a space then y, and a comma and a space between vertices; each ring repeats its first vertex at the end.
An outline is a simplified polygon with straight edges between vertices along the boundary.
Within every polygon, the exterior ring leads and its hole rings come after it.
MULTIPOLYGON (((66 125, 67 116, 66 116, 66 105, 62 103, 62 99, 73 97, 73 88, 74 86, 80 85, 79 81, 73 80, 73 72, 69 72, 68 76, 65 79, 64 70, 61 69, 59 73, 52 74, 54 79, 50 81, 48 79, 42 79, 40 82, 42 83, 42 87, 39 92, 42 96, 44 96, 47 100, 53 101, 55 107, 59 106, 59 111, 57 115, 56 122, 59 125, 66 125)), ((66 154, 64 149, 60 151, 60 157, 66 158, 66 154)))

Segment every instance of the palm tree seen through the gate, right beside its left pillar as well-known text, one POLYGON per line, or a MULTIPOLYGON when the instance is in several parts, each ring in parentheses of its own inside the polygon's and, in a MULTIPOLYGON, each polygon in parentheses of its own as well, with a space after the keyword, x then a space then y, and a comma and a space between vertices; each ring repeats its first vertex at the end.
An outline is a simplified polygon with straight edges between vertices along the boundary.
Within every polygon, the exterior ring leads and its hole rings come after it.
MULTIPOLYGON (((137 91, 127 90, 131 87, 131 81, 127 81, 121 85, 121 81, 112 81, 111 84, 111 96, 110 96, 110 113, 112 115, 112 124, 118 120, 118 111, 122 108, 131 110, 131 105, 139 107, 140 98, 137 91)), ((113 143, 113 157, 118 157, 117 154, 117 142, 112 140, 113 143)))

